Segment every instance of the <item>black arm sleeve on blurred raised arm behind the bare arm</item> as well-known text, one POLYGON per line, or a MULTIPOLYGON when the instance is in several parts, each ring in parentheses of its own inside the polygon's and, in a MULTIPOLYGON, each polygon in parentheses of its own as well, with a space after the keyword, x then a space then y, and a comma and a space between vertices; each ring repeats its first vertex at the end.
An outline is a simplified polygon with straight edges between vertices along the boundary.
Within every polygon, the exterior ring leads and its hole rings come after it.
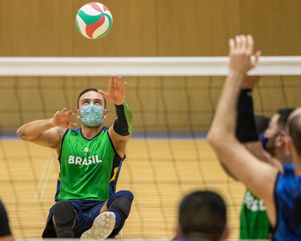
POLYGON ((250 89, 240 91, 237 104, 235 135, 241 143, 258 141, 253 112, 252 90, 250 89))

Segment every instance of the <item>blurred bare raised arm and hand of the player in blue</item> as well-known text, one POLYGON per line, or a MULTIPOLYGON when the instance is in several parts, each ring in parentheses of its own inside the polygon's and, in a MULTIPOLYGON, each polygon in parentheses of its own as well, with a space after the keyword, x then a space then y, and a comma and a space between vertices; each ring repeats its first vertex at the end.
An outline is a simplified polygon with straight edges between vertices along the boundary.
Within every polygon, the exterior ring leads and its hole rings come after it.
POLYGON ((227 169, 264 200, 273 225, 276 217, 272 194, 278 171, 275 167, 261 162, 235 138, 238 95, 245 75, 256 66, 260 53, 257 52, 255 59, 251 60, 254 45, 251 36, 236 36, 235 41, 231 39, 229 45, 229 75, 218 101, 208 133, 208 142, 227 169))

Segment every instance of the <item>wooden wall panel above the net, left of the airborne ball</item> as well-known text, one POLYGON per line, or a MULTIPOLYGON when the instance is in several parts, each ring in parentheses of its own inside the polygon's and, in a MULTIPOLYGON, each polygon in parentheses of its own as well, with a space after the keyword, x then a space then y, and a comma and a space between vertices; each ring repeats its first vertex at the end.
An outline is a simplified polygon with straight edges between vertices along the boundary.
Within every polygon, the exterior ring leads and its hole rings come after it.
POLYGON ((71 56, 71 1, 0 2, 0 56, 71 56))

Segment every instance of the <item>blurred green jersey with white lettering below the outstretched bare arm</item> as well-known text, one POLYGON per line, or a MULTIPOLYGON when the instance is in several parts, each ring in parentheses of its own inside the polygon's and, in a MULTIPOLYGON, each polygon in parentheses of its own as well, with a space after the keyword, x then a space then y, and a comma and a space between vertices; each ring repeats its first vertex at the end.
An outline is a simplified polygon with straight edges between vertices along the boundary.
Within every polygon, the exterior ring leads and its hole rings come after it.
POLYGON ((262 200, 245 191, 240 212, 239 239, 268 239, 269 221, 262 200))

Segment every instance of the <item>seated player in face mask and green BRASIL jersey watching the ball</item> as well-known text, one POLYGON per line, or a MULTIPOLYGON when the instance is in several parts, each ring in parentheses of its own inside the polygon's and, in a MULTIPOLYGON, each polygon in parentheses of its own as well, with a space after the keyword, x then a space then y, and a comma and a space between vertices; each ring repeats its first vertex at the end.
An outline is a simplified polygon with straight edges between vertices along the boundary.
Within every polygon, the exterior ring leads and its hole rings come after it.
POLYGON ((71 123, 72 111, 63 109, 53 118, 22 125, 18 136, 51 147, 59 155, 56 204, 51 207, 42 237, 115 237, 127 219, 133 195, 116 191, 117 179, 131 136, 132 116, 125 103, 127 83, 111 76, 108 92, 86 89, 77 99, 76 117, 80 128, 71 123), (116 107, 117 119, 110 128, 106 100, 116 107))

